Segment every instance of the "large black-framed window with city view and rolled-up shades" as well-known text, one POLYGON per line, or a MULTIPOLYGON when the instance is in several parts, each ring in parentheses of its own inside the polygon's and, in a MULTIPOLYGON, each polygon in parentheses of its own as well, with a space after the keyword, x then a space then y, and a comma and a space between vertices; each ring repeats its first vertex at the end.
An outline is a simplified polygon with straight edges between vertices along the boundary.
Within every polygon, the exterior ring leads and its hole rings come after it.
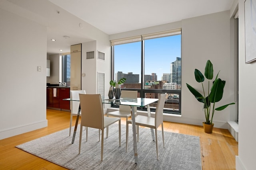
MULTIPOLYGON (((180 114, 180 29, 113 40, 112 57, 112 78, 126 78, 122 89, 138 90, 142 98, 159 98, 167 93, 164 112, 180 114)), ((154 110, 156 104, 150 107, 154 110)))

